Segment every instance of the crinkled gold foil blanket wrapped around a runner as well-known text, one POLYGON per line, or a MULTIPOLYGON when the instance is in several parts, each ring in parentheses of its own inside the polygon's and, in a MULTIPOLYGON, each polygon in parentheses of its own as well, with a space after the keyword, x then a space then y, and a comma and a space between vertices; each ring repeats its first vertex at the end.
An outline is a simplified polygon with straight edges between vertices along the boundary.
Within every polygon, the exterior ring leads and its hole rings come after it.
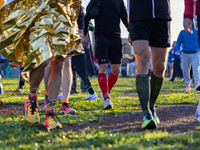
POLYGON ((84 53, 77 18, 81 0, 14 0, 0 9, 0 53, 31 71, 56 56, 84 53))

